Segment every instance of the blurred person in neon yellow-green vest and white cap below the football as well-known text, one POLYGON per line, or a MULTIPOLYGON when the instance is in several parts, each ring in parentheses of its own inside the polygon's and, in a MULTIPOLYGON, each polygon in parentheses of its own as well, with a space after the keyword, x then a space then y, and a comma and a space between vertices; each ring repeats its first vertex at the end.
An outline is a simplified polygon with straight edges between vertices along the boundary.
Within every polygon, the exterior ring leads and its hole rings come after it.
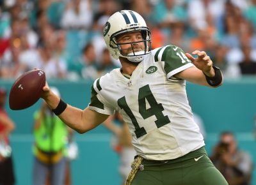
MULTIPOLYGON (((60 96, 56 87, 52 87, 52 90, 60 96)), ((33 145, 35 155, 33 166, 34 185, 45 184, 47 175, 49 175, 51 185, 63 185, 67 165, 68 131, 70 130, 43 101, 40 110, 35 112, 33 129, 35 137, 35 144, 33 145)))

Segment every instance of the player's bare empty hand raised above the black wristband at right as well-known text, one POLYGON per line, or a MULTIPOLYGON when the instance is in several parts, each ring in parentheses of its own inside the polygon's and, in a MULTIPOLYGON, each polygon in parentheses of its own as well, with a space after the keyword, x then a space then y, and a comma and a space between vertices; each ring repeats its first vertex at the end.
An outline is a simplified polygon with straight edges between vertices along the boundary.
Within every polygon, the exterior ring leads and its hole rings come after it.
POLYGON ((198 57, 195 58, 191 56, 191 54, 186 53, 186 57, 191 60, 191 62, 198 68, 199 70, 203 71, 205 75, 209 77, 214 77, 214 69, 212 68, 212 60, 204 51, 195 50, 192 54, 197 55, 198 57))

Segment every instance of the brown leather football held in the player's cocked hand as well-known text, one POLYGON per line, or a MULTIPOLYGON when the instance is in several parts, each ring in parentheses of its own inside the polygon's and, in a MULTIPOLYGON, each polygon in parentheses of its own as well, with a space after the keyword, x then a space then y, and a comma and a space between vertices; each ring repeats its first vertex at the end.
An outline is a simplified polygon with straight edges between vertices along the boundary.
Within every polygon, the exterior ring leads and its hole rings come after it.
POLYGON ((45 85, 45 73, 31 70, 21 75, 12 85, 9 105, 12 110, 31 107, 40 99, 45 85))

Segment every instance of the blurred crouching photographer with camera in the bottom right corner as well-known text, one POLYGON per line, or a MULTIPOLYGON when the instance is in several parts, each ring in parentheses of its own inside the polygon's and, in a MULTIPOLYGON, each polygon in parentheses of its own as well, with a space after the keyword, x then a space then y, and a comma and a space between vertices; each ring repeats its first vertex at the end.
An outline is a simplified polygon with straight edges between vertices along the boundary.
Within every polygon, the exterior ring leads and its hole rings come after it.
POLYGON ((249 185, 252 175, 252 159, 237 147, 233 133, 225 131, 214 147, 212 163, 220 170, 229 185, 249 185))

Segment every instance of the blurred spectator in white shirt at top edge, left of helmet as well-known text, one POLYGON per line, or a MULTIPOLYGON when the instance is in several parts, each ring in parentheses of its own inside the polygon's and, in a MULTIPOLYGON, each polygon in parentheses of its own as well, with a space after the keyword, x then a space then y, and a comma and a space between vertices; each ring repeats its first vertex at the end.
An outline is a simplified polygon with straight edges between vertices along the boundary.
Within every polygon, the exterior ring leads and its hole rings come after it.
POLYGON ((68 1, 61 18, 61 27, 88 30, 92 26, 92 18, 92 0, 68 1))

